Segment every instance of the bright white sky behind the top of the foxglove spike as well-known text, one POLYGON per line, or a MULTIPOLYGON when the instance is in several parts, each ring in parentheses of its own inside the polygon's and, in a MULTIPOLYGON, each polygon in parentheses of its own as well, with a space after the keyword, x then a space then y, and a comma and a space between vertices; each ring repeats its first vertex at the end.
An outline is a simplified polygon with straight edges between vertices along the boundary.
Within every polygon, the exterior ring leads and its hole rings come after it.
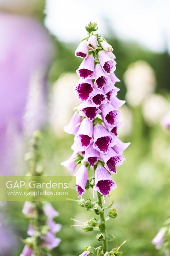
POLYGON ((170 50, 170 0, 46 0, 45 25, 62 41, 80 41, 85 25, 96 21, 116 36, 160 52, 170 50))

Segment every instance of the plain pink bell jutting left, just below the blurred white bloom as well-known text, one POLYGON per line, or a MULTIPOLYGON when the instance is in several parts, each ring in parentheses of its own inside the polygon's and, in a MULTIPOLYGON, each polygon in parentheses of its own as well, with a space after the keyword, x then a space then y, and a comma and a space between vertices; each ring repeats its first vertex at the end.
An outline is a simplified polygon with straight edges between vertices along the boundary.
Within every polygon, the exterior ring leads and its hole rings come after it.
POLYGON ((71 117, 69 124, 64 126, 64 132, 76 135, 79 129, 78 124, 80 124, 82 120, 82 116, 79 116, 78 112, 75 111, 74 115, 71 117))

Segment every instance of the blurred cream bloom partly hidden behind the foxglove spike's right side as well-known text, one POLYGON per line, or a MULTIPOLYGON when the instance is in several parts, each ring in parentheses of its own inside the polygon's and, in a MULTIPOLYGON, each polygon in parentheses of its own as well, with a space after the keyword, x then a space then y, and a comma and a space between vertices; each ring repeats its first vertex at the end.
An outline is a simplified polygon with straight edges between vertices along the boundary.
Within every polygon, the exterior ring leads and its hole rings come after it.
POLYGON ((120 136, 129 135, 132 129, 132 113, 126 105, 121 107, 120 121, 123 122, 123 125, 119 128, 120 136))

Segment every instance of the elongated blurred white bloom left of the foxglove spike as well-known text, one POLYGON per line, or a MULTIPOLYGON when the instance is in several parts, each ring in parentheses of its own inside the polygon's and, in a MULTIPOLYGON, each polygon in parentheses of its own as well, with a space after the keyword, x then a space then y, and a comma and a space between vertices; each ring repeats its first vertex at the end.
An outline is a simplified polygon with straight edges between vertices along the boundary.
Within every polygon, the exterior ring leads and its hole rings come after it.
POLYGON ((63 127, 70 121, 73 115, 73 108, 80 104, 78 98, 73 93, 73 87, 78 83, 78 76, 66 73, 55 82, 51 97, 50 123, 55 133, 60 135, 63 127))

